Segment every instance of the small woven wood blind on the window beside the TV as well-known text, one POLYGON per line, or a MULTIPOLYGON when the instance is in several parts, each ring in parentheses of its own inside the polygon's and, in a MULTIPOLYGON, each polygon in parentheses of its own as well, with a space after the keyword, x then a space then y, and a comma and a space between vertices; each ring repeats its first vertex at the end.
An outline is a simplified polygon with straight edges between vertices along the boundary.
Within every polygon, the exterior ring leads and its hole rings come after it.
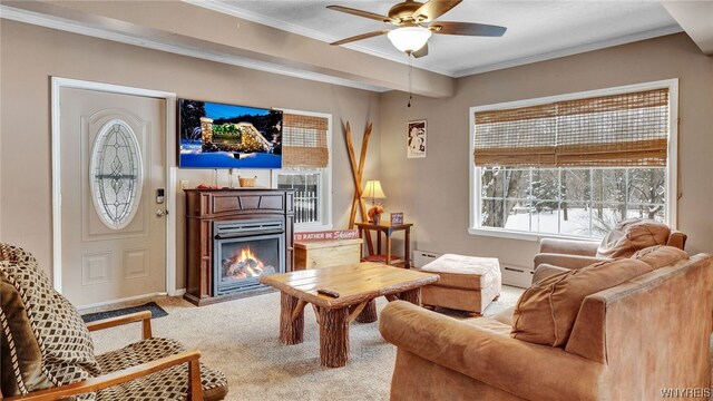
POLYGON ((323 117, 284 114, 282 117, 282 166, 320 168, 329 165, 323 117))

